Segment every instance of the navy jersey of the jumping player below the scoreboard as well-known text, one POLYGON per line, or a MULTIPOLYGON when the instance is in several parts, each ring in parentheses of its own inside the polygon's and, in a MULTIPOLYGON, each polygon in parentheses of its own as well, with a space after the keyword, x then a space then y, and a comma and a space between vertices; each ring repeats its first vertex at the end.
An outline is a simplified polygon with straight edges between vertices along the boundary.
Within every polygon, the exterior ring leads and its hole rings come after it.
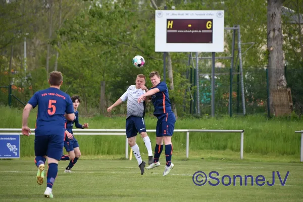
POLYGON ((159 92, 151 95, 151 102, 153 102, 155 107, 154 115, 160 116, 173 112, 166 83, 162 81, 156 87, 151 87, 150 89, 154 88, 158 88, 160 90, 159 92))

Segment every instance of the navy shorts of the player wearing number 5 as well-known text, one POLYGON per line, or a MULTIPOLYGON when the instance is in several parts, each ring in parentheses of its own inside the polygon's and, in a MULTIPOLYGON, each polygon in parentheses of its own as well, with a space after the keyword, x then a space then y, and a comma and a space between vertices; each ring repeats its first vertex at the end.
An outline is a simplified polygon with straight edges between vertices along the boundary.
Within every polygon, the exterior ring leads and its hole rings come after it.
POLYGON ((35 136, 35 156, 47 156, 52 159, 61 160, 64 136, 41 135, 35 136))

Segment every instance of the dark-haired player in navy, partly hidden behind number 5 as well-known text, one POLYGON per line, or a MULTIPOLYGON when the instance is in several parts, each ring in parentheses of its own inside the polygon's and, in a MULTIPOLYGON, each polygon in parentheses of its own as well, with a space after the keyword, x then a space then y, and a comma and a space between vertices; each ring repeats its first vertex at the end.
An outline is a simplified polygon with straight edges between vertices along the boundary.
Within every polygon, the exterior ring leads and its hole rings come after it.
POLYGON ((64 171, 65 173, 72 172, 71 171, 72 167, 77 163, 78 159, 81 156, 78 141, 74 137, 74 133, 73 133, 74 123, 75 123, 76 128, 82 128, 82 129, 88 128, 88 123, 84 123, 83 125, 79 124, 79 113, 78 113, 77 109, 81 103, 80 97, 78 95, 74 95, 71 98, 72 98, 74 112, 75 112, 75 119, 73 121, 66 122, 65 134, 66 134, 67 138, 65 138, 64 147, 69 155, 68 156, 62 155, 61 160, 62 161, 69 160, 70 163, 66 167, 66 169, 64 171))

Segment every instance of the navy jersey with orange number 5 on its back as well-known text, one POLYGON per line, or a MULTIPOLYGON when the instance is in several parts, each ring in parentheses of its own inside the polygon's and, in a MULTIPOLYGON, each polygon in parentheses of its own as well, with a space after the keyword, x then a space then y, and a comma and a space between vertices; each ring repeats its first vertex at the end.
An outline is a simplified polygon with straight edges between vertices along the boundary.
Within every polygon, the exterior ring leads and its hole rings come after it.
POLYGON ((35 136, 61 135, 65 133, 64 114, 74 113, 71 97, 58 88, 47 88, 37 91, 28 104, 35 108, 38 105, 35 136))

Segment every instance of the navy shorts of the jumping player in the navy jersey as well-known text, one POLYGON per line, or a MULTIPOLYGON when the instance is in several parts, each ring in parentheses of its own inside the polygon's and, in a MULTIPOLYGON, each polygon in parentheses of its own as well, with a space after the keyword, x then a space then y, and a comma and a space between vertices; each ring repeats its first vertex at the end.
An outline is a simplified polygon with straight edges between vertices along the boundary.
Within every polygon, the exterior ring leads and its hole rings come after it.
POLYGON ((173 136, 176 123, 174 113, 166 113, 157 118, 156 137, 173 136))

